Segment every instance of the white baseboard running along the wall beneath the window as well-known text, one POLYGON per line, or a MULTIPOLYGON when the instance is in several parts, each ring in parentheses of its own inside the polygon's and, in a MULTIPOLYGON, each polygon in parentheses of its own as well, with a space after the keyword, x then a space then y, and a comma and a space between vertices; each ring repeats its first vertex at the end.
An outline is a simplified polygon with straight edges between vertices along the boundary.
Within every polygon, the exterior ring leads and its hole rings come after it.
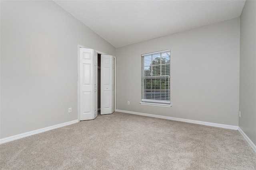
POLYGON ((197 120, 182 119, 182 118, 169 117, 169 116, 153 115, 153 114, 148 114, 148 113, 139 113, 139 112, 134 112, 134 111, 120 110, 120 109, 117 109, 116 111, 122 112, 122 113, 134 114, 134 115, 155 117, 155 118, 160 118, 160 119, 168 119, 168 120, 174 120, 174 121, 194 123, 194 124, 199 124, 199 125, 220 127, 220 128, 224 128, 224 129, 238 130, 238 126, 233 126, 233 125, 224 125, 224 124, 219 124, 219 123, 210 123, 210 122, 206 122, 206 121, 197 121, 197 120))

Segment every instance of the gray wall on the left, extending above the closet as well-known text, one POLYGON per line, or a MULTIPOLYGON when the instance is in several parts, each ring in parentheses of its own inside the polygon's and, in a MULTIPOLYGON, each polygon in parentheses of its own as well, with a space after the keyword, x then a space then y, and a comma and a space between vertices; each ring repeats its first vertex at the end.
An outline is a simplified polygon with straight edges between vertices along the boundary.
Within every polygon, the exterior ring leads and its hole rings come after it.
POLYGON ((77 45, 116 48, 53 1, 1 1, 0 24, 0 138, 78 119, 77 45))

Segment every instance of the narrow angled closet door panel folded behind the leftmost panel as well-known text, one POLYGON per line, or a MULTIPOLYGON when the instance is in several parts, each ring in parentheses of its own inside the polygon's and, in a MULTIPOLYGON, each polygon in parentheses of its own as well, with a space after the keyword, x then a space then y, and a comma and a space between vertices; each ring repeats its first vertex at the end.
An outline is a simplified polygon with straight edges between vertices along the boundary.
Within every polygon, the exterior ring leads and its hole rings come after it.
POLYGON ((93 119, 95 119, 98 116, 98 53, 96 51, 93 51, 94 53, 94 59, 93 59, 93 84, 94 84, 94 92, 93 92, 93 108, 94 108, 94 115, 93 119))

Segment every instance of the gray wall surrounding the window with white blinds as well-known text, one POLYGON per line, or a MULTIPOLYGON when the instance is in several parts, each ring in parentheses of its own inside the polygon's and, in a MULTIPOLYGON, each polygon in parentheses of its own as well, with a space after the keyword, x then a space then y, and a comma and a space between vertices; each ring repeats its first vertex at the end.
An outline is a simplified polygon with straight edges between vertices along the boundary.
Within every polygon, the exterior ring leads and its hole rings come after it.
POLYGON ((117 109, 238 126, 239 31, 234 18, 118 48, 117 109), (142 106, 141 54, 166 49, 172 107, 142 106))

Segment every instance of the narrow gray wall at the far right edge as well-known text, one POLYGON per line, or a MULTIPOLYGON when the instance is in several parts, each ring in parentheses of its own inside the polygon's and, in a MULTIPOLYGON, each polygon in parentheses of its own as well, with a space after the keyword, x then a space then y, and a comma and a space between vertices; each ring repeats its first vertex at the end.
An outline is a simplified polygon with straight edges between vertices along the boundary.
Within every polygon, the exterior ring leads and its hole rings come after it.
POLYGON ((240 18, 239 127, 256 145, 256 1, 246 0, 240 18))

